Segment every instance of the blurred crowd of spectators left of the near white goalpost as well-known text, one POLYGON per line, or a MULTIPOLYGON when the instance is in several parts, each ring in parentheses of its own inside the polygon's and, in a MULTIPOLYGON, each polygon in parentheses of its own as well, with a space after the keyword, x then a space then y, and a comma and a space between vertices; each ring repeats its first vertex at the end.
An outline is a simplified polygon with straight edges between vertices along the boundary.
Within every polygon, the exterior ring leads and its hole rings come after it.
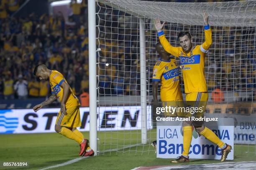
POLYGON ((68 20, 61 12, 0 20, 0 99, 51 93, 49 82, 33 75, 37 64, 63 73, 77 95, 89 88, 87 1, 74 0, 70 7, 68 20))

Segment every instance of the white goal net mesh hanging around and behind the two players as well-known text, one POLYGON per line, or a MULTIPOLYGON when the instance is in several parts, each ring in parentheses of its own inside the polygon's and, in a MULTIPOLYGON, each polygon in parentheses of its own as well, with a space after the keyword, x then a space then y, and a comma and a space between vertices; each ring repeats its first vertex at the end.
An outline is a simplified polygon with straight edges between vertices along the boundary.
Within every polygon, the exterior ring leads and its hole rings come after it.
MULTIPOLYGON (((178 3, 99 0, 96 23, 97 104, 100 115, 103 115, 98 119, 100 153, 154 152, 154 148, 150 147, 150 143, 156 140, 156 124, 151 114, 152 71, 159 58, 155 50, 159 40, 153 20, 159 17, 162 22, 166 21, 165 35, 173 46, 179 46, 177 34, 182 30, 189 31, 195 45, 200 45, 205 40, 203 10, 210 16, 213 40, 205 57, 208 104, 214 105, 211 94, 215 87, 219 87, 225 96, 223 104, 246 102, 254 106, 256 1, 178 3), (146 89, 140 89, 139 18, 145 24, 146 89), (147 92, 147 145, 141 145, 141 90, 147 92)), ((183 82, 181 87, 184 93, 183 82)), ((246 113, 253 112, 256 110, 246 113)), ((248 145, 248 152, 256 153, 255 143, 248 145)))

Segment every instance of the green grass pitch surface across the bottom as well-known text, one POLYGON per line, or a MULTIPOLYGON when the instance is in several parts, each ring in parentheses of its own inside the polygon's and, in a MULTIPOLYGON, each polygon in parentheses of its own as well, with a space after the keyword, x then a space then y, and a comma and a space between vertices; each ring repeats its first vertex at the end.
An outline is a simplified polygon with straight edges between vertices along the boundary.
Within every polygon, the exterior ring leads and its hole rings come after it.
MULTIPOLYGON (((156 138, 156 130, 151 130, 148 138, 156 138)), ((89 137, 89 132, 83 132, 89 137)), ((100 132, 100 150, 122 148, 124 145, 140 143, 140 130, 100 132), (102 140, 104 139, 104 140, 102 140), (103 145, 104 144, 104 145, 103 145)), ((79 158, 79 145, 57 133, 3 134, 0 135, 0 170, 38 170, 79 158), (28 167, 3 167, 3 162, 27 162, 28 167)), ((235 145, 234 160, 255 161, 255 145, 235 145), (249 151, 249 152, 248 152, 249 151)), ((232 161, 232 162, 233 162, 232 161)), ((219 160, 191 160, 189 164, 220 163, 219 160)), ((54 170, 131 170, 139 166, 171 165, 168 159, 156 158, 154 148, 140 145, 133 148, 107 152, 90 157, 54 170), (130 151, 130 152, 129 152, 130 151), (142 152, 144 151, 144 152, 142 152)), ((173 165, 173 164, 172 164, 173 165)))

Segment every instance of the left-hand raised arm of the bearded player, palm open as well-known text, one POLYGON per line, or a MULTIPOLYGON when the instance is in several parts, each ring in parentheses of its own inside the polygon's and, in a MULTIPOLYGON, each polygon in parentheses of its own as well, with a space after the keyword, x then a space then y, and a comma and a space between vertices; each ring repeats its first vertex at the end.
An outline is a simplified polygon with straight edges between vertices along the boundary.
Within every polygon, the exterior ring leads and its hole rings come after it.
POLYGON ((174 55, 175 57, 179 56, 179 50, 178 47, 173 47, 168 40, 166 39, 165 35, 164 35, 164 23, 161 24, 161 21, 159 18, 155 19, 155 28, 157 30, 157 34, 159 36, 159 40, 161 42, 161 45, 164 47, 164 50, 166 50, 167 52, 169 52, 170 54, 174 55))

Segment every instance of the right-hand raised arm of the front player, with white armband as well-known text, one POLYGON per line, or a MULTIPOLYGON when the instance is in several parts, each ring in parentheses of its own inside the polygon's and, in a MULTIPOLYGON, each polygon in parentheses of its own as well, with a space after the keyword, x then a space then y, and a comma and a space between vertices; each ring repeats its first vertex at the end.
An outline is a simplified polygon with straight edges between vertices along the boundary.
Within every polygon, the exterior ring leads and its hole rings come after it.
POLYGON ((210 29, 208 23, 208 15, 205 11, 203 11, 203 18, 204 18, 204 27, 205 27, 205 42, 202 43, 200 50, 202 52, 208 52, 208 49, 212 45, 212 30, 210 29))

